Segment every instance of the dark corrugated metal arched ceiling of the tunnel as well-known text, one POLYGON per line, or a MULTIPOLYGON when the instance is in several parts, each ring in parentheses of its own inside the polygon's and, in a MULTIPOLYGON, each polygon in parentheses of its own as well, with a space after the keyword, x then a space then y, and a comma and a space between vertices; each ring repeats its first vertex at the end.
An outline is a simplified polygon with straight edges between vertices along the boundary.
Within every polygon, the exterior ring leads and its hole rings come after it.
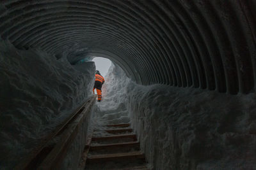
MULTIPOLYGON (((1 0, 17 48, 102 53, 143 85, 255 89, 256 1, 1 0)), ((75 56, 75 55, 74 55, 75 56)))

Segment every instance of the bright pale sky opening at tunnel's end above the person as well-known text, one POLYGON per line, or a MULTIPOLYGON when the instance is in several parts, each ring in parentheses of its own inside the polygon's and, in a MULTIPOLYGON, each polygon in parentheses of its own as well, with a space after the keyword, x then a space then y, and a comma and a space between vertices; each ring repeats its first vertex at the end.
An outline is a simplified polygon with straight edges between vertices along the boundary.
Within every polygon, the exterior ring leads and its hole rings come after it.
POLYGON ((111 60, 103 57, 95 57, 92 61, 95 62, 96 69, 100 71, 100 74, 106 76, 108 69, 111 66, 111 60))

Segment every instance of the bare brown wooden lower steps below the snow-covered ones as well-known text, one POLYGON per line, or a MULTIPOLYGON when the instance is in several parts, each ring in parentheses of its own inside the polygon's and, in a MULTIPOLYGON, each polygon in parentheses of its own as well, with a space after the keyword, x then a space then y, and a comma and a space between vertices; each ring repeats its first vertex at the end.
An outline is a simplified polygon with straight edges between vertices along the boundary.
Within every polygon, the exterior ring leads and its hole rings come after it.
MULTIPOLYGON (((145 155, 130 124, 106 125, 102 136, 93 136, 88 148, 86 170, 146 170, 145 155)), ((94 135, 94 134, 93 134, 94 135)))

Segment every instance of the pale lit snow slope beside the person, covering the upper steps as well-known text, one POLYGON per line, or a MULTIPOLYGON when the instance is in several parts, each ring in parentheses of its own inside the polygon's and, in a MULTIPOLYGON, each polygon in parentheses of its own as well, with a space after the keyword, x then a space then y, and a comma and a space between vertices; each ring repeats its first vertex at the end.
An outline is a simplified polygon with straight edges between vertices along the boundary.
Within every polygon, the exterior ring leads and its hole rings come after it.
POLYGON ((112 64, 105 80, 102 86, 102 101, 97 103, 93 117, 94 136, 108 135, 102 131, 106 129, 104 125, 130 122, 126 91, 122 85, 127 85, 131 79, 125 76, 120 67, 112 64))

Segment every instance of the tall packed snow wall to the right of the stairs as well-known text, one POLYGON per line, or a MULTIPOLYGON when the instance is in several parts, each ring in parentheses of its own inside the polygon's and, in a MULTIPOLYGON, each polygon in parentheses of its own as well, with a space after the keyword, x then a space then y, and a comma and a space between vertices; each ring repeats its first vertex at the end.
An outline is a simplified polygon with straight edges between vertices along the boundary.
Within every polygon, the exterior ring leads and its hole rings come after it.
POLYGON ((255 94, 145 87, 111 71, 108 95, 127 108, 152 169, 255 169, 255 94))

